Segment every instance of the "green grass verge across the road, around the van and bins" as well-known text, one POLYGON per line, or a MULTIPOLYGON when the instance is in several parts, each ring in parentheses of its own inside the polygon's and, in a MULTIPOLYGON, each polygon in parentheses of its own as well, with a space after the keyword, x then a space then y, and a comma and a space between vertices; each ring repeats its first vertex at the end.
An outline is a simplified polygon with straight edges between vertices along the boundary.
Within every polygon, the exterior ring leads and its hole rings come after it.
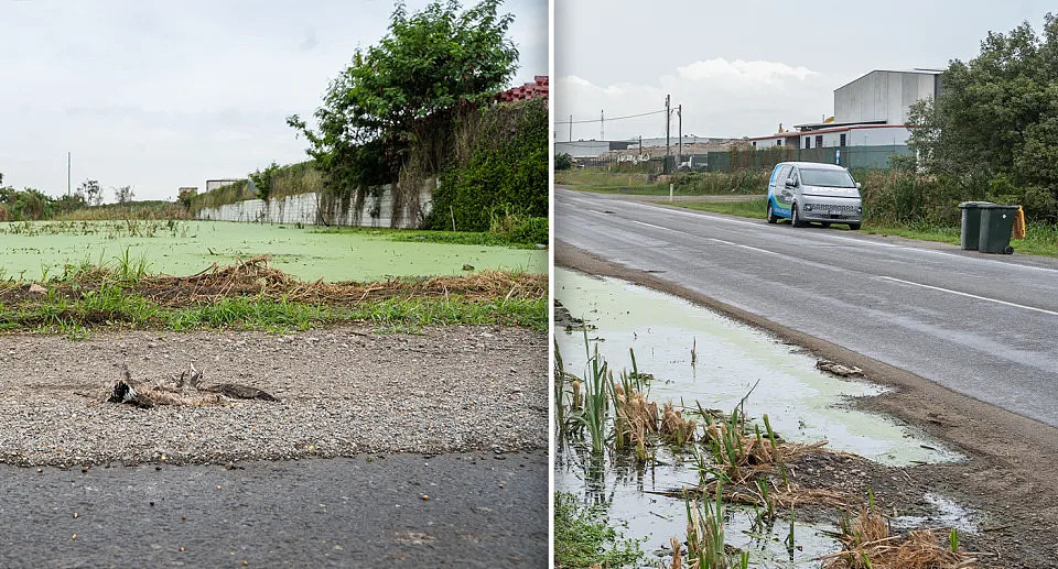
MULTIPOLYGON (((697 209, 699 211, 765 219, 767 204, 767 199, 755 199, 751 201, 723 203, 684 201, 673 205, 687 209, 697 209)), ((848 230, 843 225, 834 225, 832 229, 839 231, 848 230)), ((931 226, 926 223, 894 225, 866 221, 860 231, 877 236, 896 236, 906 239, 935 241, 954 245, 959 244, 960 239, 960 230, 958 227, 931 226)), ((1029 223, 1025 237, 1025 239, 1011 240, 1011 245, 1015 252, 1026 255, 1058 256, 1058 225, 1029 223)))

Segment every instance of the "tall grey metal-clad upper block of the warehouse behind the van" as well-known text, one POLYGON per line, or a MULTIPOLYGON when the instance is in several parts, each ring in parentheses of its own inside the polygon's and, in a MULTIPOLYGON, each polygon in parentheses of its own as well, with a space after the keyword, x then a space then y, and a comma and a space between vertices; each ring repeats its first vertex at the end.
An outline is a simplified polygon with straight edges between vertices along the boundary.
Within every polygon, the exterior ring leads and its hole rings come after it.
POLYGON ((834 90, 834 122, 905 124, 910 106, 936 91, 937 75, 871 72, 834 90))

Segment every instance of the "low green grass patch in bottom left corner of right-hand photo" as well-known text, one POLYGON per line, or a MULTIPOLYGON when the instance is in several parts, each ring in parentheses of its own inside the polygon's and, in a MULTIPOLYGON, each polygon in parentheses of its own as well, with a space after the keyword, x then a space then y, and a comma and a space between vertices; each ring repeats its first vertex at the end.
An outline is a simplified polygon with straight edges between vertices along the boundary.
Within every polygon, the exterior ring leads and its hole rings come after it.
POLYGON ((559 569, 637 567, 640 540, 609 526, 606 508, 577 504, 576 496, 554 493, 554 566, 559 569))

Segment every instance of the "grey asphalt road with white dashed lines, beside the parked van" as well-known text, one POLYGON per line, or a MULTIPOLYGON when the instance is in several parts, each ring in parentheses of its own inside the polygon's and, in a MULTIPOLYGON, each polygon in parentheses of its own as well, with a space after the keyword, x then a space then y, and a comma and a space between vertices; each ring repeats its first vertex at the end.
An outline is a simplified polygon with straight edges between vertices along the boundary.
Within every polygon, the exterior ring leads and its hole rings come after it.
POLYGON ((564 188, 554 212, 557 241, 1058 426, 1058 260, 564 188))

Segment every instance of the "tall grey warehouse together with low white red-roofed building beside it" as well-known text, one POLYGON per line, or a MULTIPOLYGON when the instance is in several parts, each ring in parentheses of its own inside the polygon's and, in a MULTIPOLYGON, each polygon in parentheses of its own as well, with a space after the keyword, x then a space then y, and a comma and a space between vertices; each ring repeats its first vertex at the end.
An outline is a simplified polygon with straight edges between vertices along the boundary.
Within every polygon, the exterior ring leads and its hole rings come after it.
POLYGON ((834 89, 834 116, 830 120, 795 124, 796 131, 746 140, 757 149, 906 145, 911 105, 940 94, 940 73, 875 69, 834 89))

